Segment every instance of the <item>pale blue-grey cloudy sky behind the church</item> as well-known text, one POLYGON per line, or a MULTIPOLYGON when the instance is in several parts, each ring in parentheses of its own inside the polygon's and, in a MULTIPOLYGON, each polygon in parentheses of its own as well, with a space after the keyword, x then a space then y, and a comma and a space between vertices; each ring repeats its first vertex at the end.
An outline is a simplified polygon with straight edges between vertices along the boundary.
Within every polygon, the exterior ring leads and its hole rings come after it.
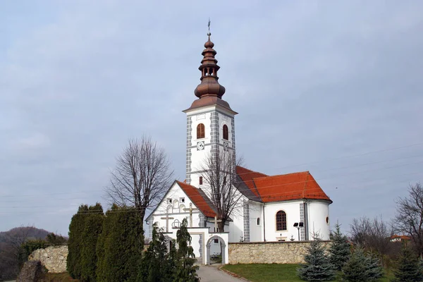
POLYGON ((0 3, 0 231, 68 234, 130 137, 185 179, 211 20, 245 166, 310 171, 330 219, 390 221, 423 180, 422 1, 0 3))

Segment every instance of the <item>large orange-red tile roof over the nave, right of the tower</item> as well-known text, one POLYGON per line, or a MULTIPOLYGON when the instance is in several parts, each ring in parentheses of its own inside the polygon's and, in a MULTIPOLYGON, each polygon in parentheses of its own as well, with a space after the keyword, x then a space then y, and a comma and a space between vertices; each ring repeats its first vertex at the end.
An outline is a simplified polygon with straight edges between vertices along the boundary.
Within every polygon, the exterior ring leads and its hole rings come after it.
POLYGON ((280 176, 266 176, 263 173, 257 173, 237 166, 237 173, 250 190, 255 192, 255 194, 258 193, 263 202, 301 199, 332 202, 309 171, 280 176))

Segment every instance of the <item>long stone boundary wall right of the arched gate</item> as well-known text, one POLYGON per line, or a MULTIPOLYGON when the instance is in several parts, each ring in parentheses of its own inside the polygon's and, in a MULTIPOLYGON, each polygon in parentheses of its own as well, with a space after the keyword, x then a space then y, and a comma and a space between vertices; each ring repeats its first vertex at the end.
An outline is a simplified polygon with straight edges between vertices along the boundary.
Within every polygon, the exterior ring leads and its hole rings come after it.
MULTIPOLYGON (((325 247, 331 241, 322 241, 325 247)), ((229 264, 300 264, 310 241, 229 243, 229 264)))

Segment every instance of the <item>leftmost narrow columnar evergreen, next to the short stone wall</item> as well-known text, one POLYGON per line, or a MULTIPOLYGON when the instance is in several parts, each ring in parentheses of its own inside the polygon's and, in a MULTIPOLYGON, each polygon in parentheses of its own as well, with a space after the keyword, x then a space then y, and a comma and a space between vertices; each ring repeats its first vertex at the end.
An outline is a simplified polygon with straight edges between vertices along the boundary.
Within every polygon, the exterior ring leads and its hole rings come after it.
POLYGON ((68 258, 66 260, 66 269, 69 275, 74 279, 81 277, 81 242, 82 233, 85 227, 85 216, 87 216, 88 206, 80 205, 78 212, 72 216, 69 224, 68 240, 68 258))

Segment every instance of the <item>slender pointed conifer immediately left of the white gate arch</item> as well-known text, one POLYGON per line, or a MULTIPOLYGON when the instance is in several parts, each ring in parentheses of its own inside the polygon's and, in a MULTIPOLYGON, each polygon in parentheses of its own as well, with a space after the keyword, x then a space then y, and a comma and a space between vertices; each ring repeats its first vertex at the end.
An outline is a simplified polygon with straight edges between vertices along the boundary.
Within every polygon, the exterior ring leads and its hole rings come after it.
POLYGON ((191 245, 191 235, 188 233, 188 221, 183 219, 180 228, 176 233, 176 242, 178 243, 176 272, 173 281, 175 282, 199 282, 197 270, 199 266, 195 266, 194 250, 191 245))

